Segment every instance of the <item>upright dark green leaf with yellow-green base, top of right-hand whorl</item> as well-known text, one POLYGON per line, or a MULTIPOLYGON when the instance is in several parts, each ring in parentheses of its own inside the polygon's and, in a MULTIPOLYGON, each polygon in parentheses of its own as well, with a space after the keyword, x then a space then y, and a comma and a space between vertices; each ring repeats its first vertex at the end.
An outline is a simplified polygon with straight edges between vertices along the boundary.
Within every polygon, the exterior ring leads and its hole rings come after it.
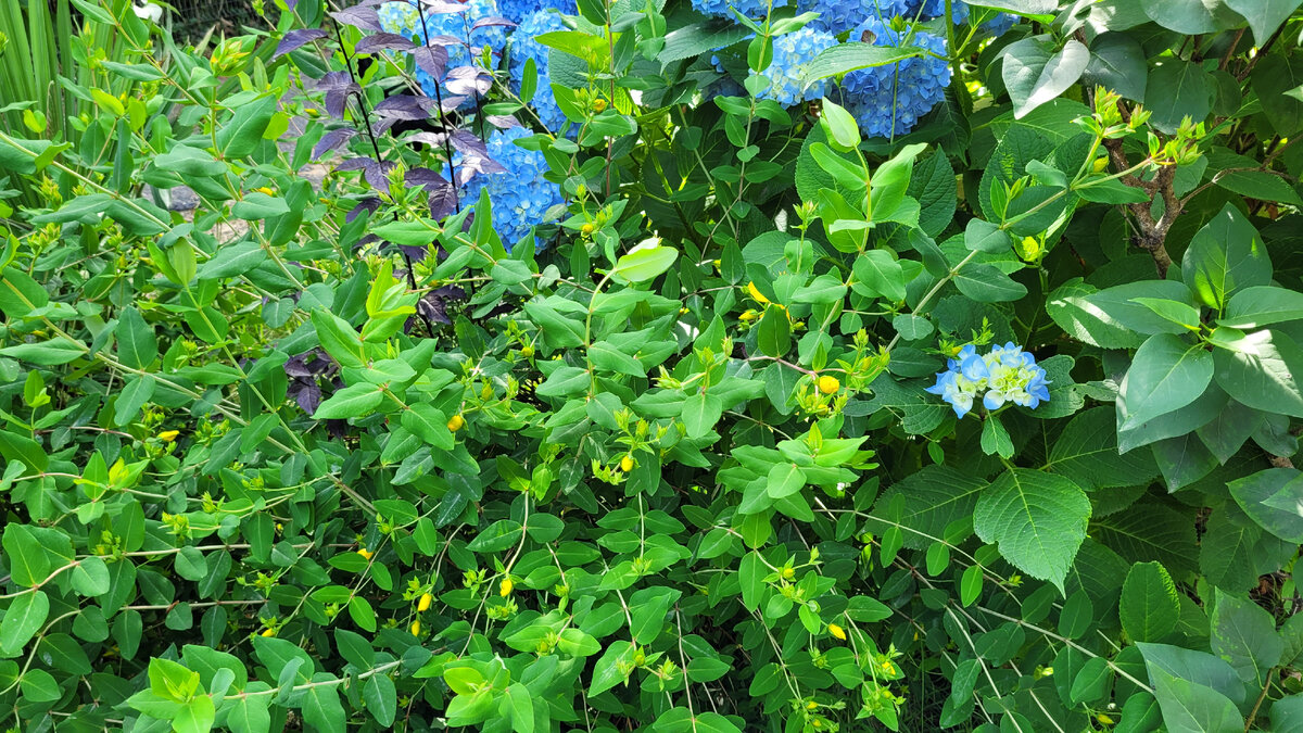
POLYGON ((1221 310, 1238 290, 1270 284, 1272 261, 1253 224, 1227 203, 1195 233, 1181 274, 1204 305, 1221 310))

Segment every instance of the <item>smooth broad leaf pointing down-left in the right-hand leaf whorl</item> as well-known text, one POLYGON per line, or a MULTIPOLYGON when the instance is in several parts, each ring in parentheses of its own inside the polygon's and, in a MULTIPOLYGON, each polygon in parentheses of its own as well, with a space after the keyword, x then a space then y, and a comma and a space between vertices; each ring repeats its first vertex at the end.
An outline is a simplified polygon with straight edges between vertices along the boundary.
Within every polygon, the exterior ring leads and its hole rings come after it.
POLYGON ((1213 378, 1213 357, 1203 344, 1173 334, 1149 337, 1136 351, 1122 381, 1118 400, 1135 426, 1194 402, 1213 378))

